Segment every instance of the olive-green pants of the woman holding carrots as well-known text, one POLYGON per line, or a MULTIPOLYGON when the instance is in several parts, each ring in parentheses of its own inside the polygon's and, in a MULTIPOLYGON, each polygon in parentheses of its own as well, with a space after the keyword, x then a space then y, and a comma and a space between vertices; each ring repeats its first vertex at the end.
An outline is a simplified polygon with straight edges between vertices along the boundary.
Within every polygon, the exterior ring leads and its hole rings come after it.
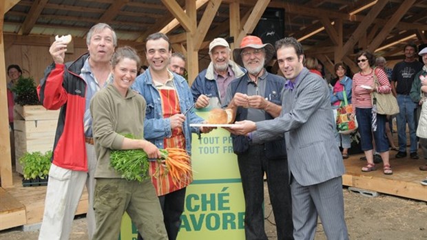
POLYGON ((127 212, 144 239, 167 240, 162 209, 151 179, 142 183, 126 179, 96 179, 94 240, 118 239, 127 212))

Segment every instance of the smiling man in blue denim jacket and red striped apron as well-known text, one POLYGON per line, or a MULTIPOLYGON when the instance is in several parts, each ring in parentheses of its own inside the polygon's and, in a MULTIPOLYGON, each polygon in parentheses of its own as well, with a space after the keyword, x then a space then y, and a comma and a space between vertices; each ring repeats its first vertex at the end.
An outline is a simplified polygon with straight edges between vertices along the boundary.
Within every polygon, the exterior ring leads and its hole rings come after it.
MULTIPOLYGON (((202 123, 204 119, 191 110, 187 112, 194 103, 187 81, 167 69, 171 43, 166 35, 160 32, 149 35, 145 48, 149 68, 136 78, 132 86, 147 101, 144 138, 158 148, 184 148, 190 154, 191 132, 209 132, 211 128, 189 126, 190 123, 202 123)), ((169 240, 176 239, 184 210, 185 189, 191 183, 192 176, 181 179, 176 185, 169 179, 157 180, 152 177, 163 210, 167 235, 169 240)), ((142 239, 140 235, 138 239, 142 239)))

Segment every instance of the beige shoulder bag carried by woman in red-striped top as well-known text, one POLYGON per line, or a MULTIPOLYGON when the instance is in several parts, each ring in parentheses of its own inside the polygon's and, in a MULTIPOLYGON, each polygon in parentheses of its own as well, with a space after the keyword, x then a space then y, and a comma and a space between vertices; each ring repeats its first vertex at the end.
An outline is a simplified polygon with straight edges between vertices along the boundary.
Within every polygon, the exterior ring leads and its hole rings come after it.
MULTIPOLYGON (((377 74, 376 74, 376 68, 373 70, 373 78, 374 78, 374 87, 380 86, 377 74)), ((379 92, 372 92, 372 104, 373 106, 377 106, 377 113, 378 114, 384 114, 384 115, 394 115, 399 113, 399 105, 397 104, 397 99, 391 92, 389 93, 379 93, 379 92)))

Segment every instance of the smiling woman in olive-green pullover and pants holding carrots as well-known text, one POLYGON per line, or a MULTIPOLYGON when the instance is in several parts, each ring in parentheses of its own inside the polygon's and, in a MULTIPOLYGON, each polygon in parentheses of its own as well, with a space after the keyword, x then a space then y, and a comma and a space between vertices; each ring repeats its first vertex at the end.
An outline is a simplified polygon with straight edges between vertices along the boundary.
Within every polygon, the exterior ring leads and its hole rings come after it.
POLYGON ((98 92, 90 104, 96 156, 93 239, 118 239, 123 213, 127 212, 146 239, 167 239, 163 214, 150 179, 127 181, 110 166, 112 150, 142 149, 149 158, 160 151, 143 139, 145 99, 129 87, 140 59, 129 47, 118 48, 112 60, 113 83, 98 92), (132 134, 129 139, 122 134, 132 134))

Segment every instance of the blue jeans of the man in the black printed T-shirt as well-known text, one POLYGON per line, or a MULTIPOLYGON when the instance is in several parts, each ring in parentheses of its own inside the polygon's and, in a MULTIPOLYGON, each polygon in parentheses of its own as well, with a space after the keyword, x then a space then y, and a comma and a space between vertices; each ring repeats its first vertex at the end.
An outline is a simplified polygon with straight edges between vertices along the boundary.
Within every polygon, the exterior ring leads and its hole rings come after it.
POLYGON ((417 129, 414 118, 417 103, 414 103, 409 95, 397 94, 397 104, 399 104, 399 114, 396 117, 399 152, 406 152, 406 123, 409 127, 410 152, 417 152, 417 129))

